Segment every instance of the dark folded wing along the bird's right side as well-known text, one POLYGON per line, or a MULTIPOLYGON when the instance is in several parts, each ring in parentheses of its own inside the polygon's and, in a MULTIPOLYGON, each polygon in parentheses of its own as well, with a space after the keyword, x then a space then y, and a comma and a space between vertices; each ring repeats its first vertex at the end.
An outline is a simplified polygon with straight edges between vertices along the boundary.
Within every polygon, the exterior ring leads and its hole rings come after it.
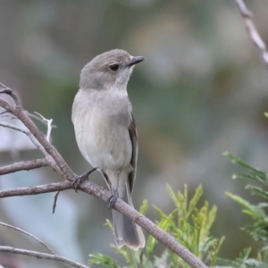
POLYGON ((138 133, 136 130, 136 125, 134 121, 133 114, 131 113, 131 122, 130 122, 130 140, 132 145, 132 156, 130 164, 132 165, 133 171, 129 174, 129 182, 130 182, 130 194, 133 191, 134 181, 136 178, 136 171, 137 171, 137 159, 138 159, 138 133))

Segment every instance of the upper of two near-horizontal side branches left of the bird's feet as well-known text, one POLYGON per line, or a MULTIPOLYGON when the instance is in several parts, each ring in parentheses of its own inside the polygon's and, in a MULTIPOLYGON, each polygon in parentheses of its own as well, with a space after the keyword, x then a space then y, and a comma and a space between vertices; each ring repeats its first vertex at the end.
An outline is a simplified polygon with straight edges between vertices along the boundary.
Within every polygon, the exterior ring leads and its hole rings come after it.
POLYGON ((46 158, 13 163, 0 167, 0 175, 9 174, 13 172, 34 170, 47 165, 48 163, 46 161, 46 158))

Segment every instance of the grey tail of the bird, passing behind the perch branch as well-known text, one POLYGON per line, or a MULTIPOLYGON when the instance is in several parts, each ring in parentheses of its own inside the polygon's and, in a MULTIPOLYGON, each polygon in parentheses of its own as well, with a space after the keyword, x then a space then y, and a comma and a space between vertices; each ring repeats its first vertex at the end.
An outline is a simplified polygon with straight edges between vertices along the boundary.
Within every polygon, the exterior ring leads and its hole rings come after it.
MULTIPOLYGON (((121 199, 134 207, 128 180, 125 183, 125 190, 121 199)), ((145 247, 146 240, 141 228, 127 216, 115 210, 113 210, 113 228, 115 241, 118 247, 127 245, 134 250, 138 250, 139 247, 145 247)))

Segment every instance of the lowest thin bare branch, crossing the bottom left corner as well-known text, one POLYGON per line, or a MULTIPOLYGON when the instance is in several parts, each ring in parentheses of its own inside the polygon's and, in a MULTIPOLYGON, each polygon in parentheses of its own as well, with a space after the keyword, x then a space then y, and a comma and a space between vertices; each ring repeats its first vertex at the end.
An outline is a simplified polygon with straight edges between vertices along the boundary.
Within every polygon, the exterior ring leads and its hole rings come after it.
POLYGON ((8 252, 8 253, 20 254, 20 255, 29 255, 29 256, 36 257, 38 259, 54 260, 54 261, 61 262, 63 264, 69 264, 72 267, 88 268, 88 266, 84 264, 79 264, 61 255, 51 255, 51 254, 41 253, 41 252, 32 251, 32 250, 26 250, 26 249, 15 248, 15 247, 4 247, 4 246, 0 247, 0 252, 8 252))

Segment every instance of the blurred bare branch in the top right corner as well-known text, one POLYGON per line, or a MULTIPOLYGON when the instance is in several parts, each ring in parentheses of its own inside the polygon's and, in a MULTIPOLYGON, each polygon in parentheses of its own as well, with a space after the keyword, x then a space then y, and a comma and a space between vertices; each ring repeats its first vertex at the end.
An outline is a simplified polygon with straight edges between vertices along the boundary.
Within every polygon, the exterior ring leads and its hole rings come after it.
POLYGON ((260 37, 258 31, 255 29, 255 25, 252 21, 253 14, 247 9, 247 6, 243 0, 235 0, 235 1, 239 6, 239 10, 240 10, 242 17, 244 18, 249 37, 252 39, 253 43, 255 44, 257 49, 259 50, 259 52, 264 60, 264 63, 266 65, 266 67, 268 68, 267 48, 264 44, 263 39, 260 37))

